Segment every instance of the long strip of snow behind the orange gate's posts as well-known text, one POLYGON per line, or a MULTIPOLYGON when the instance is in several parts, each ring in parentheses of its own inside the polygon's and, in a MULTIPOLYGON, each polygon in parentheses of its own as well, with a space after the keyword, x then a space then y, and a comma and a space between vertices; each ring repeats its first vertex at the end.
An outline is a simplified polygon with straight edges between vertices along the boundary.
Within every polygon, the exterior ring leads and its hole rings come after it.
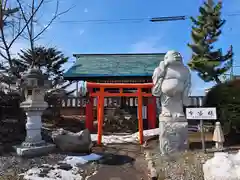
MULTIPOLYGON (((159 134, 159 128, 149 129, 143 131, 144 138, 155 136, 159 134)), ((97 141, 97 134, 91 134, 92 141, 97 141)), ((138 132, 128 135, 103 135, 103 144, 116 144, 116 143, 137 143, 139 142, 138 132)))

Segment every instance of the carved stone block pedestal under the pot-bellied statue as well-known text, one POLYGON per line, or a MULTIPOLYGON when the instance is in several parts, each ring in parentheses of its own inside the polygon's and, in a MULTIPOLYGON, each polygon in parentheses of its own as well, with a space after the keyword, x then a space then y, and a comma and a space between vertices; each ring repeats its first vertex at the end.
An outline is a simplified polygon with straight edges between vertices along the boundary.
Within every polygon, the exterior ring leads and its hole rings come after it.
POLYGON ((188 149, 188 122, 185 117, 159 116, 159 146, 161 155, 188 149))

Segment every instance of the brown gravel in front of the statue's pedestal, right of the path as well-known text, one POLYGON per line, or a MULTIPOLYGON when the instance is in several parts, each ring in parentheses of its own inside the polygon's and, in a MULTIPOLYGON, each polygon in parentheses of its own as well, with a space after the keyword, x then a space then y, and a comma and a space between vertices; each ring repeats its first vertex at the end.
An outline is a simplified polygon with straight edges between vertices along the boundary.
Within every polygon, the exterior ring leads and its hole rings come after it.
POLYGON ((202 164, 213 156, 213 153, 194 150, 163 157, 157 140, 149 143, 147 151, 155 163, 158 180, 204 180, 202 164))

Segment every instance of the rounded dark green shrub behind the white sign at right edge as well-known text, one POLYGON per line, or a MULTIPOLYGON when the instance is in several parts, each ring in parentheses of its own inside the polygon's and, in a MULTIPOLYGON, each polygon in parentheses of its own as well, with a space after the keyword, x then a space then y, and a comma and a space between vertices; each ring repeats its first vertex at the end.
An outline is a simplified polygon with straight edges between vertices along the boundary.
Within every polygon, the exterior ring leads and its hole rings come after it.
POLYGON ((240 80, 214 86, 206 95, 205 107, 216 107, 225 133, 240 130, 240 80))

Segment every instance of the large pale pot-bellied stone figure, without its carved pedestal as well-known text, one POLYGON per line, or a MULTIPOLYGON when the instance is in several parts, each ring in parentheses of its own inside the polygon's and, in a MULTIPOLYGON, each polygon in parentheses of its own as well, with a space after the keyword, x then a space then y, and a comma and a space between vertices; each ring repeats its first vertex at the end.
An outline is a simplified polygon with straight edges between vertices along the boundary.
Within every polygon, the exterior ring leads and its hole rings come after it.
POLYGON ((152 78, 152 93, 161 98, 161 115, 184 117, 183 104, 188 104, 191 75, 183 65, 181 54, 168 51, 164 61, 154 70, 152 78))

